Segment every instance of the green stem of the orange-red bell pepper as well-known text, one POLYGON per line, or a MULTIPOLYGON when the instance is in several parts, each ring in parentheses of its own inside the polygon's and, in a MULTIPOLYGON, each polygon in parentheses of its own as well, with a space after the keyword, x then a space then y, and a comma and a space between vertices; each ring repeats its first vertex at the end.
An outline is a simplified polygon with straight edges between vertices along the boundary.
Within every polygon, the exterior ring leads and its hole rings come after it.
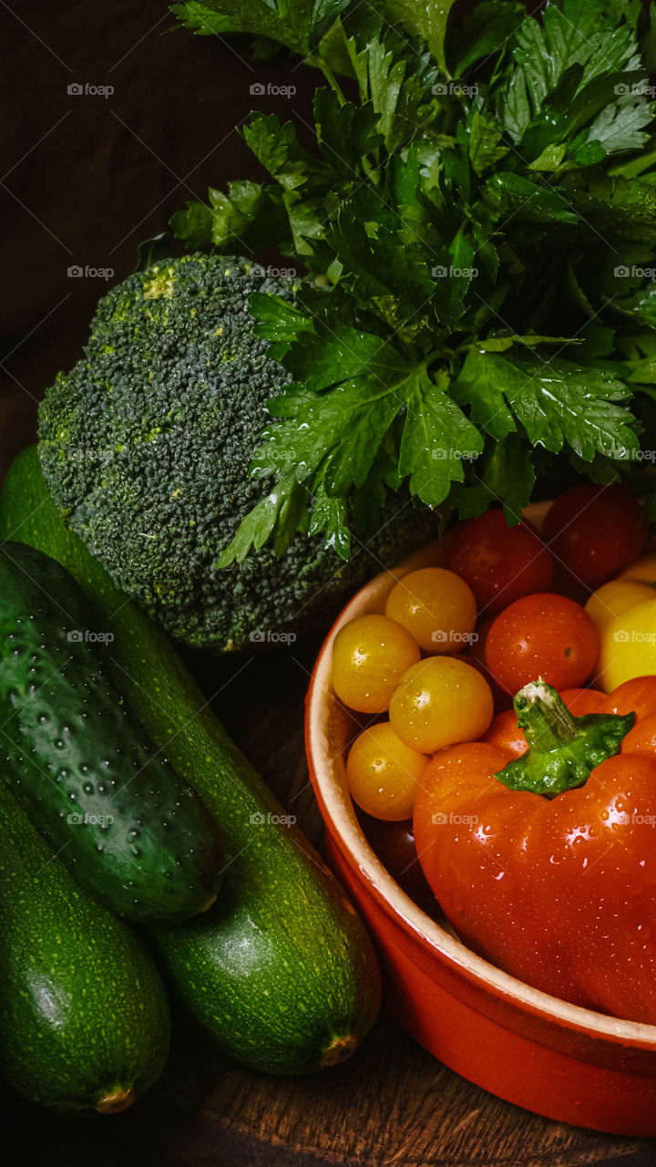
POLYGON ((514 707, 529 749, 495 776, 510 790, 545 798, 584 785, 595 766, 619 752, 635 721, 635 713, 575 718, 542 678, 519 690, 514 707))

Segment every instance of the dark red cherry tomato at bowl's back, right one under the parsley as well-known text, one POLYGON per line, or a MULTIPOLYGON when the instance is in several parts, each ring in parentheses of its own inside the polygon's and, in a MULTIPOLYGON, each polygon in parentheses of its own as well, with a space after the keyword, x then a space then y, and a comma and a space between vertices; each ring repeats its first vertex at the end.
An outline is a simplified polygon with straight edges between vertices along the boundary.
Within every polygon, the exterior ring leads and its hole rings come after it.
POLYGON ((591 588, 637 559, 647 534, 642 508, 630 490, 596 482, 566 490, 546 512, 543 530, 554 558, 591 588))

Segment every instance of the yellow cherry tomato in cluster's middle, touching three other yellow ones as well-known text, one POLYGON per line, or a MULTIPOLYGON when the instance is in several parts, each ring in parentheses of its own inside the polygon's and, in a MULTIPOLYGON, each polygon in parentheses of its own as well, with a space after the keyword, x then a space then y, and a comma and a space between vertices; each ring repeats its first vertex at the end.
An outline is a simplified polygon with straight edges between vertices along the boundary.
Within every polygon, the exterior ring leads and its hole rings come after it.
POLYGON ((390 722, 406 746, 433 754, 445 746, 477 741, 494 711, 490 686, 466 661, 426 657, 395 689, 390 722))

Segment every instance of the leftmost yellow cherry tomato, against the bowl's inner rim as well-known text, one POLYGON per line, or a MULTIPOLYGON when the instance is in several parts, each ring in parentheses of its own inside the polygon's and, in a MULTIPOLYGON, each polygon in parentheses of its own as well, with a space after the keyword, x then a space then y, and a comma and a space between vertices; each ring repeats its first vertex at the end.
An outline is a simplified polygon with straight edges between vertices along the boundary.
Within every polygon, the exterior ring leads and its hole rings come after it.
POLYGON ((389 616, 356 616, 333 642, 333 687, 360 713, 383 713, 404 672, 421 654, 405 628, 389 616))

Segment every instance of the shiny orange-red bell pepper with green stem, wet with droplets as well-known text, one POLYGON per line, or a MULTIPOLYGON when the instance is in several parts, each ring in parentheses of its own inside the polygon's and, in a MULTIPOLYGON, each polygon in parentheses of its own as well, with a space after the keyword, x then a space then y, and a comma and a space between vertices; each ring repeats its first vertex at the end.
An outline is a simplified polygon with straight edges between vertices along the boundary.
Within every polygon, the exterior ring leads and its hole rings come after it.
POLYGON ((417 851, 474 951, 564 1000, 656 1023, 656 677, 573 691, 571 705, 582 715, 536 682, 515 698, 523 733, 502 714, 488 741, 437 754, 417 851))

